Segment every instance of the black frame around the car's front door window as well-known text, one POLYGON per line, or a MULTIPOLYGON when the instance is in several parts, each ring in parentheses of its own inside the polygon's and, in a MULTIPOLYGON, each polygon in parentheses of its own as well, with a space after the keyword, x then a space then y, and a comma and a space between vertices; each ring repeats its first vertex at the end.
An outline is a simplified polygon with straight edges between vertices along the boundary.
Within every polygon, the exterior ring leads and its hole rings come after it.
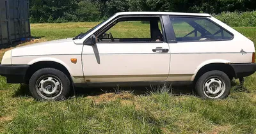
MULTIPOLYGON (((105 24, 104 26, 102 26, 99 30, 95 31, 95 33, 93 33, 95 36, 97 36, 98 34, 101 34, 102 31, 104 31, 104 29, 106 29, 107 27, 109 27, 113 22, 115 22, 116 20, 118 19, 121 19, 121 18, 129 18, 129 17, 138 17, 138 18, 150 18, 150 17, 156 17, 156 18, 159 18, 159 21, 161 23, 161 29, 162 29, 162 34, 163 34, 163 38, 164 40, 163 41, 118 41, 118 42, 115 42, 115 41, 110 41, 110 42, 97 42, 97 43, 167 43, 166 41, 166 34, 164 32, 164 27, 163 27, 163 20, 162 20, 162 16, 161 15, 120 15, 120 16, 117 16, 115 17, 114 19, 112 19, 110 22, 108 22, 108 24, 105 24)), ((88 39, 86 39, 88 40, 88 39)), ((84 41, 86 41, 84 40, 84 41)), ((96 43, 96 44, 97 44, 96 43)))

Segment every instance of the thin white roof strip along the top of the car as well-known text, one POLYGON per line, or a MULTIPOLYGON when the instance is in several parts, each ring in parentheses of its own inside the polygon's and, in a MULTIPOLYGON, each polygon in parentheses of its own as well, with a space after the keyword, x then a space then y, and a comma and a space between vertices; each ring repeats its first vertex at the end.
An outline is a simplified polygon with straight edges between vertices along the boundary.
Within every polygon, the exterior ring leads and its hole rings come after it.
POLYGON ((198 16, 211 17, 208 13, 180 13, 180 12, 158 12, 158 11, 127 11, 118 12, 116 15, 184 15, 184 16, 198 16))

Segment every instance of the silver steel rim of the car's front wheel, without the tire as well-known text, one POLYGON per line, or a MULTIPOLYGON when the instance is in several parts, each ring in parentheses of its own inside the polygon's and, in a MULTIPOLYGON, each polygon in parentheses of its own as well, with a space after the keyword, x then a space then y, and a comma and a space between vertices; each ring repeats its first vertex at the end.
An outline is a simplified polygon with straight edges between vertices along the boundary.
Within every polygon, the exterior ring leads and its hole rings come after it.
POLYGON ((57 98, 62 92, 61 81, 57 77, 44 75, 36 81, 36 92, 47 100, 57 98))

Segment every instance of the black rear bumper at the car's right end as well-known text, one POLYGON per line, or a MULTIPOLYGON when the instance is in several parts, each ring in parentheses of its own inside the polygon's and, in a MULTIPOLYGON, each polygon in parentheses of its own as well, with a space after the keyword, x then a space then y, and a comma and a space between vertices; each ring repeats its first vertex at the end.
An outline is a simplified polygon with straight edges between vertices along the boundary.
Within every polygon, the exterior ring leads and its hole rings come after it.
POLYGON ((255 73, 256 64, 255 63, 237 63, 230 64, 235 72, 235 78, 248 77, 255 73))

